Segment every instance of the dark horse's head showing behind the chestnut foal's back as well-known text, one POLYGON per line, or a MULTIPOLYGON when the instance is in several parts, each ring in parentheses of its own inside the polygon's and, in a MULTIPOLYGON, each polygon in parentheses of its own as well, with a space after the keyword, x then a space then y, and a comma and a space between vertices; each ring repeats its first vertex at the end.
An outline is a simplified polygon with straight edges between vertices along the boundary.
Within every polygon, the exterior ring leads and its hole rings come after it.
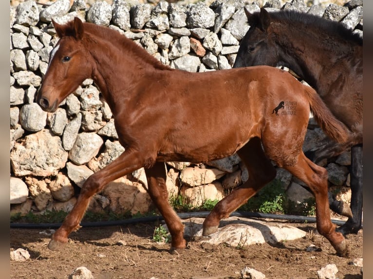
POLYGON ((244 10, 250 29, 241 40, 233 68, 257 65, 277 66, 278 54, 269 34, 271 18, 268 12, 263 8, 260 13, 254 14, 248 12, 246 8, 244 10))

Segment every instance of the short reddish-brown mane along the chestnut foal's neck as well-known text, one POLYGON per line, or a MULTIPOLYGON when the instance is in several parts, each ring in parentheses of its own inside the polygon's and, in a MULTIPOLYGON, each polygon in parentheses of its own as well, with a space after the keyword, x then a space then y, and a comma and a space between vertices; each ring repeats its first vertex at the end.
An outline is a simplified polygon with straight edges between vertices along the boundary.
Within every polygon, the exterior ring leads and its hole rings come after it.
POLYGON ((131 55, 141 58, 138 59, 139 62, 144 61, 146 63, 149 63, 156 69, 171 70, 168 65, 162 64, 159 60, 149 54, 149 52, 147 52, 144 48, 138 46, 135 42, 120 34, 118 31, 89 22, 84 22, 83 25, 84 32, 94 36, 102 37, 106 41, 112 42, 115 47, 126 50, 126 52, 131 52, 131 55))

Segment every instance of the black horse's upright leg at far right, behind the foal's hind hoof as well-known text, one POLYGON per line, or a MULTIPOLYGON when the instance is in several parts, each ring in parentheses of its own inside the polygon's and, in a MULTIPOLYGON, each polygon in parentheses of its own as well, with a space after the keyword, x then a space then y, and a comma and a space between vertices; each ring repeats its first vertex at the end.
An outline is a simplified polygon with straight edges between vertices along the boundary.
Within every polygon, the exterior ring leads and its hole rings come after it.
POLYGON ((352 218, 337 228, 337 231, 346 235, 357 233, 361 228, 363 209, 363 145, 351 147, 351 210, 352 218))

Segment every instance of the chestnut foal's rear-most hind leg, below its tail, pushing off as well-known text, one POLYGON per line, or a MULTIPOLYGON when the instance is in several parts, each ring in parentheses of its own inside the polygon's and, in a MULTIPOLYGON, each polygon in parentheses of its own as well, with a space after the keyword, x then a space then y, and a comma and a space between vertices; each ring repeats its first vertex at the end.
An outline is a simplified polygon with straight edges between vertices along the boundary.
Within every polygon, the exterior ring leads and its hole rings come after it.
POLYGON ((347 256, 348 246, 345 238, 336 232, 336 225, 330 220, 328 203, 328 174, 326 169, 317 166, 301 152, 297 163, 284 166, 291 174, 306 183, 315 195, 318 232, 326 237, 339 256, 347 256))

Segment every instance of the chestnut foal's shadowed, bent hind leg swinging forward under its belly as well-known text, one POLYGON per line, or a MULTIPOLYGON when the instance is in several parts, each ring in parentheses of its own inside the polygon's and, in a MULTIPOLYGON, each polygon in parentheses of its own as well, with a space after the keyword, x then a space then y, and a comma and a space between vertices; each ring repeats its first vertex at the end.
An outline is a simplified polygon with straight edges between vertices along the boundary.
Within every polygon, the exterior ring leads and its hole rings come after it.
POLYGON ((237 154, 244 162, 249 178, 243 185, 234 189, 216 204, 205 219, 203 235, 214 233, 219 227, 220 220, 229 217, 230 213, 246 203, 250 197, 276 176, 276 169, 264 154, 259 138, 251 139, 237 151, 237 154))

